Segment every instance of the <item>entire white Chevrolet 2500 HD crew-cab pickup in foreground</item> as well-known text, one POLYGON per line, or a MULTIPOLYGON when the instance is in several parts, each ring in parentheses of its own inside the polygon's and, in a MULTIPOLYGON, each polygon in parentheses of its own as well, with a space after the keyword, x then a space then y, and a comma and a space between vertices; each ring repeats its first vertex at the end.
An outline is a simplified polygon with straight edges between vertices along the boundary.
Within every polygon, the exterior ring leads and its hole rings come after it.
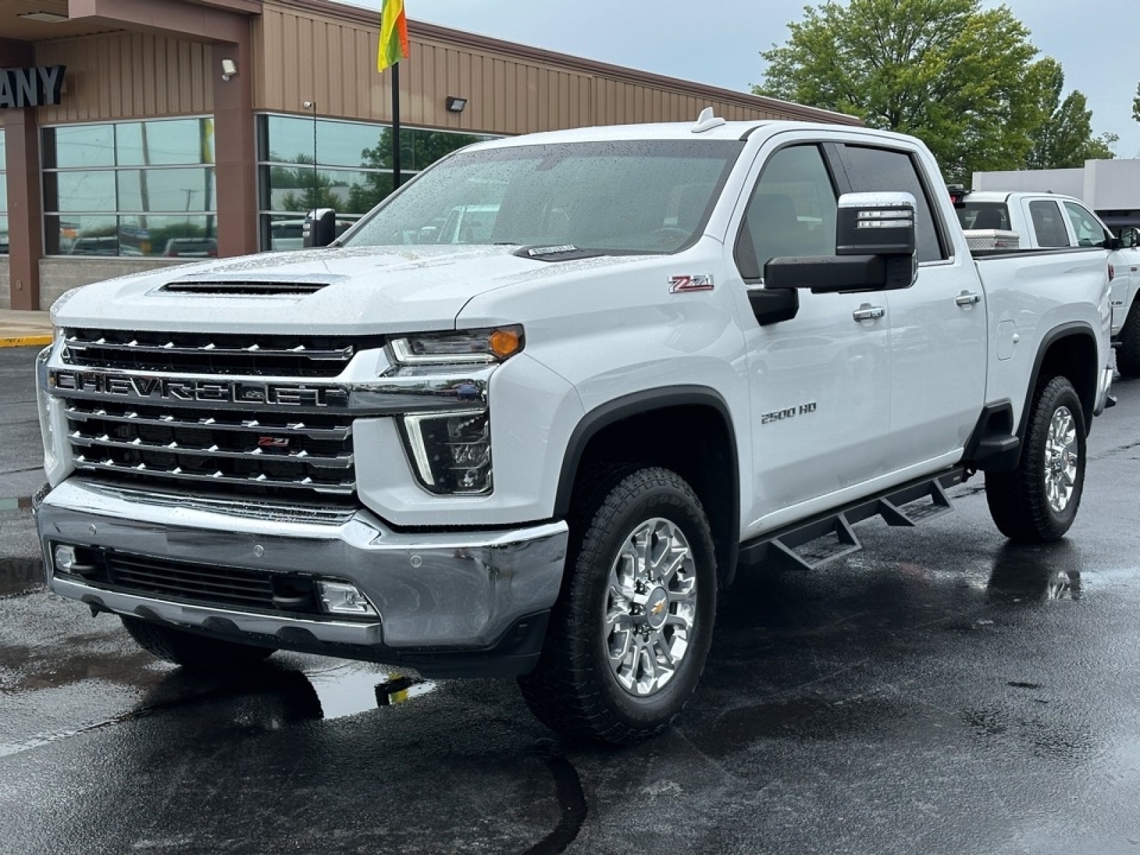
POLYGON ((1008 537, 1066 532, 1107 258, 976 262, 894 133, 481 142, 331 246, 55 304, 49 585, 185 666, 516 676, 552 727, 636 740, 694 691, 738 567, 815 570, 978 471, 1008 537))

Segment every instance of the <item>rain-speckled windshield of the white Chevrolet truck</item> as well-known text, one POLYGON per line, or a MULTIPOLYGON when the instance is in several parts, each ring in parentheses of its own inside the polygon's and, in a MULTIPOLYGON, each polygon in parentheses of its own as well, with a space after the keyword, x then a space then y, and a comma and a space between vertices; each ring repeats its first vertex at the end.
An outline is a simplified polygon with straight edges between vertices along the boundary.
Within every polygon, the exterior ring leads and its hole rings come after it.
POLYGON ((673 252, 700 234, 743 142, 563 142, 461 152, 343 243, 518 244, 673 252))

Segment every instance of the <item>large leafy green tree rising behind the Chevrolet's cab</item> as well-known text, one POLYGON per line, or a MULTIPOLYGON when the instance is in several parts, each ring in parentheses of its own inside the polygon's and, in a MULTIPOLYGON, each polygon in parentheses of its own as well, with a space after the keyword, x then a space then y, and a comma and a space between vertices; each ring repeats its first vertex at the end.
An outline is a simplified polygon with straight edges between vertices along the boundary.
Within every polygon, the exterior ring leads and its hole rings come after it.
POLYGON ((920 137, 947 180, 1017 169, 1056 63, 1036 59, 1029 32, 1005 6, 980 0, 850 0, 804 9, 789 24, 757 95, 811 104, 920 137))

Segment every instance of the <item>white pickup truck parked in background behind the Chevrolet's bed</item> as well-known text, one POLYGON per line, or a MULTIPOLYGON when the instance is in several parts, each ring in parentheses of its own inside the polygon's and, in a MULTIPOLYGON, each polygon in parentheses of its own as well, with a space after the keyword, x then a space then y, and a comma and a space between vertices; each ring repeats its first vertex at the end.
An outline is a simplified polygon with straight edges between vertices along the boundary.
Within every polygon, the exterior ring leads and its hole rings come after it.
POLYGON ((1140 231, 1127 226, 1113 241, 1081 199, 1053 193, 952 193, 958 219, 976 254, 990 249, 1065 250, 1110 245, 1113 344, 1125 377, 1140 377, 1140 231))

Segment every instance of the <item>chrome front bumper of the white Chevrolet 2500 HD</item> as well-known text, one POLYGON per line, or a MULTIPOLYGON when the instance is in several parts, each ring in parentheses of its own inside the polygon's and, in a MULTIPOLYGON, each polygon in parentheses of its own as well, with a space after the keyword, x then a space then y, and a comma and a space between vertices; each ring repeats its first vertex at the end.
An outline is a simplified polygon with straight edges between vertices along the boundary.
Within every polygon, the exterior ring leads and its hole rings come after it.
MULTIPOLYGON (((562 583, 568 538, 564 522, 510 531, 405 534, 365 510, 318 512, 195 499, 76 478, 43 497, 36 523, 48 585, 56 594, 235 641, 249 636, 252 643, 376 661, 494 653, 511 635, 522 642, 522 636, 537 634, 540 643, 545 613, 562 583), (55 544, 335 577, 356 585, 380 618, 242 611, 109 591, 80 577, 57 576, 55 544)), ((521 652, 516 646, 507 643, 506 650, 521 652)), ((537 657, 537 650, 528 656, 537 657)))

